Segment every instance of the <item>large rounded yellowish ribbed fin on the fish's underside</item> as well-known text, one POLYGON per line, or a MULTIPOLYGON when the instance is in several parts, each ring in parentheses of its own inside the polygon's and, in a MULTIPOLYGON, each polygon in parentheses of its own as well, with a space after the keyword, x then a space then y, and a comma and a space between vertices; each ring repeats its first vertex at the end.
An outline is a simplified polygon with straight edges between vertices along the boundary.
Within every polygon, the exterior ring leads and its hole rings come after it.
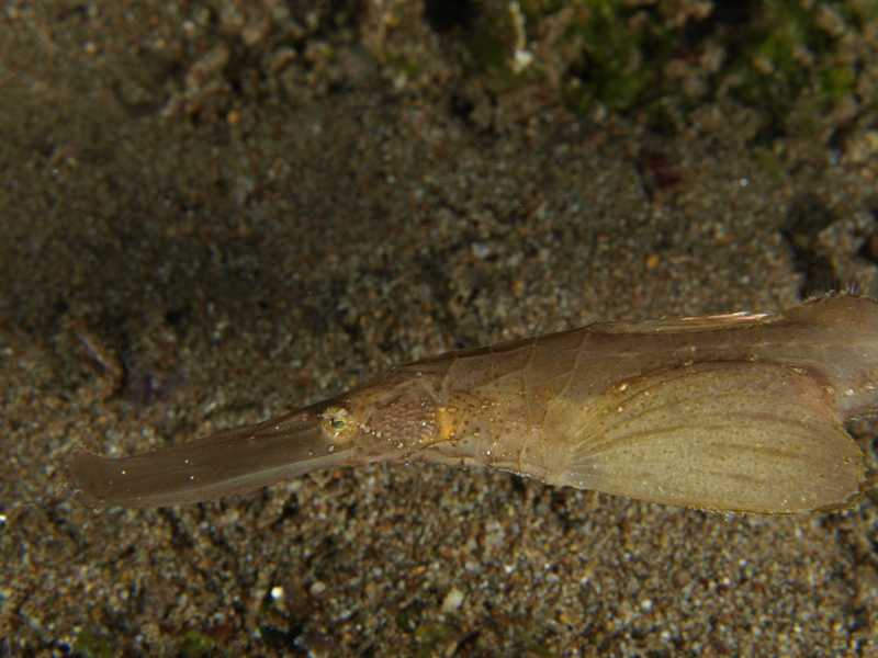
POLYGON ((819 375, 712 362, 605 392, 559 484, 707 510, 795 514, 860 492, 862 453, 819 375))

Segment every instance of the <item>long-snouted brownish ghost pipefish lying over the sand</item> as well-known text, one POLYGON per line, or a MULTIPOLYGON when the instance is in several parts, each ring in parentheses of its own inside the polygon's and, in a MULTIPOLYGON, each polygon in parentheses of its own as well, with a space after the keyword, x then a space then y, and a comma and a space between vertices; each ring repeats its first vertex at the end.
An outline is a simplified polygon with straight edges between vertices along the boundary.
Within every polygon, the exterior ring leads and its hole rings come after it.
POLYGON ((140 455, 80 446, 95 506, 190 504, 376 462, 487 467, 724 513, 848 507, 866 469, 845 430, 878 411, 878 302, 578 329, 447 352, 259 424, 140 455))

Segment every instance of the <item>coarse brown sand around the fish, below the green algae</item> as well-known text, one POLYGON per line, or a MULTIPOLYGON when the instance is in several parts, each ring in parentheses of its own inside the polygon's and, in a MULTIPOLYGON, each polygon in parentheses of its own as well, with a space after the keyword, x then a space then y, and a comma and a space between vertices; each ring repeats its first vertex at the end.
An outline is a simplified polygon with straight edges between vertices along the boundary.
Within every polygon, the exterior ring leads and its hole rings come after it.
MULTIPOLYGON (((248 5, 233 36, 185 7, 0 16, 0 656, 878 655, 874 490, 725 518, 376 465, 78 500, 76 444, 135 454, 598 319, 878 292, 868 126, 765 151, 733 102, 672 135, 527 102, 486 124, 441 58, 255 61, 223 45, 261 38, 248 5)), ((876 468, 876 423, 851 431, 876 468)))

